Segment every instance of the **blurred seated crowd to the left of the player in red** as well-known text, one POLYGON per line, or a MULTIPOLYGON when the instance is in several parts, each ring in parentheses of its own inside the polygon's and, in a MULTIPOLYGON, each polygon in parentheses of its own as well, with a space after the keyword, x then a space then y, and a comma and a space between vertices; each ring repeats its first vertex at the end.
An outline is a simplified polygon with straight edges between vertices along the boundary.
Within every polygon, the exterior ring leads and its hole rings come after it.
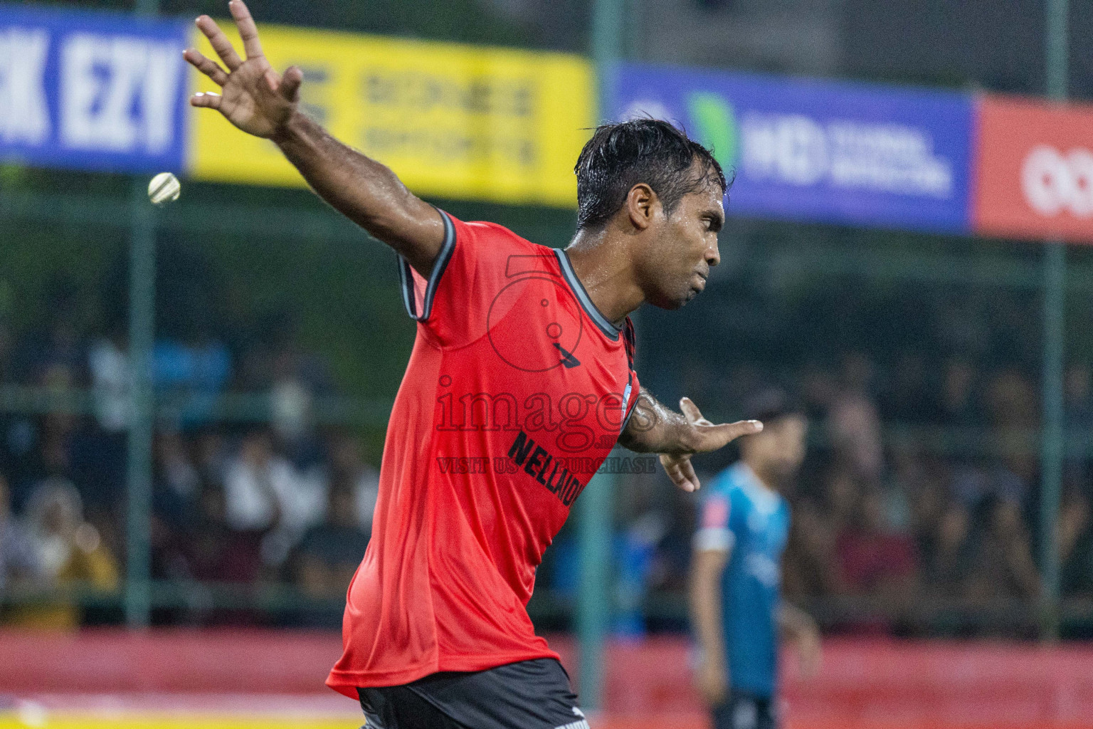
MULTIPOLYGON (((89 390, 93 413, 0 413, 7 624, 73 627, 96 612, 80 609, 81 591, 116 591, 124 579, 129 355, 121 336, 80 331, 75 307, 61 285, 42 329, 16 337, 0 322, 0 385, 89 390)), ((297 345, 283 318, 265 324, 234 353, 207 336, 155 344, 156 392, 185 398, 155 431, 152 577, 189 584, 193 603, 160 610, 161 620, 261 620, 255 610, 213 609, 198 583, 342 596, 367 545, 378 470, 353 434, 314 423, 314 398, 331 391, 321 358, 297 345), (227 391, 269 395, 270 422, 214 422, 211 409, 227 391)))

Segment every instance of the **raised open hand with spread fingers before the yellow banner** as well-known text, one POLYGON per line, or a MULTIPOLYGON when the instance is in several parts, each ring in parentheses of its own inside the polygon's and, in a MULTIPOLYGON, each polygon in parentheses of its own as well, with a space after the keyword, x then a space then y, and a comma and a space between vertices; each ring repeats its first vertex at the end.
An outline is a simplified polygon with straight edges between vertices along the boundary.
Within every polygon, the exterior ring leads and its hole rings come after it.
POLYGON ((290 67, 283 77, 274 71, 262 55, 258 27, 247 5, 243 0, 232 0, 227 7, 239 30, 246 59, 239 58, 227 36, 211 17, 198 17, 198 28, 209 38, 224 66, 205 58, 196 48, 188 48, 183 54, 187 62, 221 87, 220 94, 195 94, 190 104, 219 110, 248 134, 267 139, 277 137, 296 111, 304 73, 295 66, 290 67))

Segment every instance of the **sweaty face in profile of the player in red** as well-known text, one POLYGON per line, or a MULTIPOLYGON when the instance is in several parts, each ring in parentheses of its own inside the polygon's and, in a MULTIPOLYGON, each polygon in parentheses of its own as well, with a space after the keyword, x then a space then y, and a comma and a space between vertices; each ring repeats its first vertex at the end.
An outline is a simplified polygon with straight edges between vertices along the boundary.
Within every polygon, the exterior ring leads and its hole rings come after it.
POLYGON ((717 233, 725 224, 721 188, 715 183, 683 197, 671 215, 660 216, 643 261, 645 298, 677 309, 706 287, 721 256, 717 233))

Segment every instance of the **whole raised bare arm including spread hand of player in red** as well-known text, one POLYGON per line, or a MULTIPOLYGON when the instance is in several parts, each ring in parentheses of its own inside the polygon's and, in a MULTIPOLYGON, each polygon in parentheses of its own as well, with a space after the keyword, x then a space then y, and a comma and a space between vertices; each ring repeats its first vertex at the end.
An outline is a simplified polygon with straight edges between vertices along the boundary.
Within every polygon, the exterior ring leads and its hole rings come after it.
POLYGON ((299 111, 299 68, 278 73, 262 55, 258 28, 243 0, 228 3, 245 58, 208 15, 198 28, 220 63, 189 48, 184 58, 221 87, 195 94, 192 106, 216 109, 248 134, 273 140, 319 197, 391 246, 422 275, 433 270, 444 243, 435 208, 414 196, 385 165, 345 146, 299 111))

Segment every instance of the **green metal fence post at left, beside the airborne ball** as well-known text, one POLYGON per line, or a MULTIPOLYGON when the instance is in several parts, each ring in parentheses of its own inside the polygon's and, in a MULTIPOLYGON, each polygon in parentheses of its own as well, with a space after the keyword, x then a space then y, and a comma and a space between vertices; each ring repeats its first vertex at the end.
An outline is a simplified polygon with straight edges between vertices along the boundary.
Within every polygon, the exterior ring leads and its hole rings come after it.
MULTIPOLYGON (((156 15, 158 0, 137 0, 138 15, 156 15)), ((152 346, 155 341, 155 212, 146 183, 134 178, 129 245, 129 442, 126 475, 126 624, 148 626, 152 577, 152 346)))

